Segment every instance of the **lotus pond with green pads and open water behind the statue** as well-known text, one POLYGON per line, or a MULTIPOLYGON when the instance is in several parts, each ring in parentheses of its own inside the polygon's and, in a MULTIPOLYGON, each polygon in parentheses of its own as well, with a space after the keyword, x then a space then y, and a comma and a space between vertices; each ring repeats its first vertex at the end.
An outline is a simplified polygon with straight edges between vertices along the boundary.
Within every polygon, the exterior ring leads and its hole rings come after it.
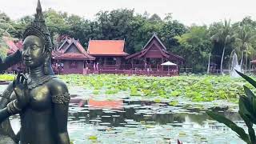
MULTIPOLYGON (((73 143, 243 143, 206 110, 226 115, 245 127, 238 115, 242 78, 190 75, 171 78, 125 75, 61 75, 70 94, 73 143)), ((13 75, 0 75, 11 80, 13 75)), ((0 86, 0 93, 6 85, 0 86)), ((253 89, 254 90, 254 89, 253 89)), ((14 130, 18 116, 11 118, 14 130)))

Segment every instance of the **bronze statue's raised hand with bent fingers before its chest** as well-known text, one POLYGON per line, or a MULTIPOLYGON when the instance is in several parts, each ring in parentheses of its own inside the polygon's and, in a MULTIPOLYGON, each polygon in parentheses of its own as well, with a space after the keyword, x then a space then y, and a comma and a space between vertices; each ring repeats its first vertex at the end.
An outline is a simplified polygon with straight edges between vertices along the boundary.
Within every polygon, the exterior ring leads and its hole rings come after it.
POLYGON ((24 108, 30 101, 27 78, 24 74, 18 73, 17 78, 14 80, 14 93, 17 97, 16 104, 18 108, 24 108))

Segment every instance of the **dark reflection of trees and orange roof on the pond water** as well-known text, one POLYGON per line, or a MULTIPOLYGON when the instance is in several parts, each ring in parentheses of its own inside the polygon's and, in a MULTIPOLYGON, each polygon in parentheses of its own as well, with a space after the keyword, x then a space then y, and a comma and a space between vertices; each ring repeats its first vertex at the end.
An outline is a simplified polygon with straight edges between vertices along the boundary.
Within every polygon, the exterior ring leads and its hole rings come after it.
MULTIPOLYGON (((210 117, 205 113, 206 110, 199 108, 183 108, 169 106, 167 103, 155 102, 130 102, 119 101, 95 101, 89 99, 84 102, 83 107, 78 108, 78 104, 70 106, 70 116, 73 120, 86 119, 88 123, 110 122, 110 126, 122 126, 126 119, 135 122, 154 123, 154 125, 166 125, 167 123, 196 122, 203 125, 210 117)), ((239 114, 228 110, 227 107, 218 108, 226 118, 232 121, 242 121, 239 114)))

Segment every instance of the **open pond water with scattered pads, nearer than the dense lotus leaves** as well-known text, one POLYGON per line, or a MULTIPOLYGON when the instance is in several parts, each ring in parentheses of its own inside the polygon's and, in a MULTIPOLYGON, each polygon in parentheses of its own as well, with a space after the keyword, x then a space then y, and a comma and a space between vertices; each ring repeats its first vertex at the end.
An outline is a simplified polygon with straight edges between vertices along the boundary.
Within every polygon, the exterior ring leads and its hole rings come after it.
MULTIPOLYGON (((1 89, 1 87, 0 87, 1 89)), ((84 143, 243 143, 226 126, 210 120, 206 110, 218 111, 245 126, 237 106, 205 106, 167 102, 139 101, 130 98, 81 100, 72 98, 68 130, 76 144, 84 143)), ((14 131, 18 116, 11 118, 14 131)), ((1 142, 1 141, 0 141, 1 142)))

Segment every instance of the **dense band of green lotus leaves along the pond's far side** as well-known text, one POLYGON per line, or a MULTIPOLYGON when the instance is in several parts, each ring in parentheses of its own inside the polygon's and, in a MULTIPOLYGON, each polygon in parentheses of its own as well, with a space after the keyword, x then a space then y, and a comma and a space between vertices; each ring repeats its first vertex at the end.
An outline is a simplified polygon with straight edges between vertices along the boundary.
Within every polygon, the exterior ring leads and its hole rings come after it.
MULTIPOLYGON (((82 86, 92 90, 94 95, 126 91, 130 97, 185 97, 193 102, 211 102, 218 99, 238 102, 239 96, 244 94, 242 86, 246 84, 246 80, 242 78, 194 74, 162 78, 115 74, 68 74, 58 77, 70 86, 82 86)), ((10 74, 0 75, 0 80, 10 81, 13 78, 10 74)), ((249 84, 246 86, 252 88, 249 84)))

